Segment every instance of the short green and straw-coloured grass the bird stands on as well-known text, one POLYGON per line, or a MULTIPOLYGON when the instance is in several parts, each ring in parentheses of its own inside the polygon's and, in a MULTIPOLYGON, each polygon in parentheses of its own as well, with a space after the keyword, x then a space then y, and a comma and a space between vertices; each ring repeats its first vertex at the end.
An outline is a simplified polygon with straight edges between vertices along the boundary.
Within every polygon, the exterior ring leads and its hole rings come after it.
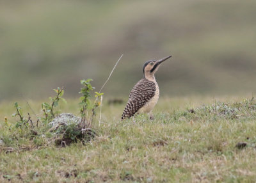
MULTIPOLYGON (((67 101, 61 110, 77 115, 78 101, 67 101)), ((40 113, 40 102, 30 104, 40 113)), ((0 182, 256 181, 255 100, 163 97, 154 120, 120 121, 123 108, 104 104, 104 120, 94 124, 99 136, 66 148, 26 130, 8 131, 1 122, 0 182), (246 147, 236 148, 238 142, 246 147)), ((13 111, 9 102, 1 104, 0 118, 13 111)))

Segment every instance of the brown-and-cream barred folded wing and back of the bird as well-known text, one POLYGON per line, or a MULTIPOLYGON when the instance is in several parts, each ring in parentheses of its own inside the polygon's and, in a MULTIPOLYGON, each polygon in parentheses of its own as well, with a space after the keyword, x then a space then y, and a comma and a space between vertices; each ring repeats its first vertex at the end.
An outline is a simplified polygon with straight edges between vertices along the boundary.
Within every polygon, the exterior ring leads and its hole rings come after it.
POLYGON ((132 88, 122 119, 130 118, 137 113, 138 110, 148 102, 148 100, 154 97, 155 92, 156 84, 154 82, 148 81, 145 78, 141 79, 132 88))

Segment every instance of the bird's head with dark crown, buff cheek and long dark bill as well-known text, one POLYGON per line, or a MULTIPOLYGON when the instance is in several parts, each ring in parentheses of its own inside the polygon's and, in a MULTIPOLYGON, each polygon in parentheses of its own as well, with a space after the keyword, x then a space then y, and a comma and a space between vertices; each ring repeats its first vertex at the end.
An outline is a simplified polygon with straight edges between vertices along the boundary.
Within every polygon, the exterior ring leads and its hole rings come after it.
POLYGON ((168 56, 166 58, 162 58, 160 60, 150 60, 147 61, 143 66, 143 74, 146 79, 154 78, 154 74, 156 73, 157 69, 159 68, 159 65, 163 63, 163 61, 167 60, 168 58, 171 58, 172 56, 168 56))

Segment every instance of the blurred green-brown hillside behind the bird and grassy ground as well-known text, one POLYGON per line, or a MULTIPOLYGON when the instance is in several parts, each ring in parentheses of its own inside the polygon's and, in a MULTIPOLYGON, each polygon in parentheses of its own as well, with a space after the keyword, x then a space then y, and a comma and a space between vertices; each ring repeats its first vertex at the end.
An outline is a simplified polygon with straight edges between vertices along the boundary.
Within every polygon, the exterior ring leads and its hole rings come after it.
POLYGON ((1 1, 0 100, 127 97, 147 60, 173 55, 156 74, 161 95, 256 91, 256 1, 1 1))

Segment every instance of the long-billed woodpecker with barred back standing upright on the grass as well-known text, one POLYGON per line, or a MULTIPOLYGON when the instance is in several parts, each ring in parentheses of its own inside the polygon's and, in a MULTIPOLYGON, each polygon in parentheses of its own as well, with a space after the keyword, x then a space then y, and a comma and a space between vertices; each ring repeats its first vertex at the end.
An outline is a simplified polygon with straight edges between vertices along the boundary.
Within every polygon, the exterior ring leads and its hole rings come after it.
MULTIPOLYGON (((136 113, 151 114, 152 109, 159 99, 159 87, 155 79, 157 69, 172 56, 160 60, 150 60, 143 65, 143 78, 132 88, 128 102, 122 113, 122 120, 131 118, 136 113)), ((150 116, 150 118, 152 118, 150 116)))

